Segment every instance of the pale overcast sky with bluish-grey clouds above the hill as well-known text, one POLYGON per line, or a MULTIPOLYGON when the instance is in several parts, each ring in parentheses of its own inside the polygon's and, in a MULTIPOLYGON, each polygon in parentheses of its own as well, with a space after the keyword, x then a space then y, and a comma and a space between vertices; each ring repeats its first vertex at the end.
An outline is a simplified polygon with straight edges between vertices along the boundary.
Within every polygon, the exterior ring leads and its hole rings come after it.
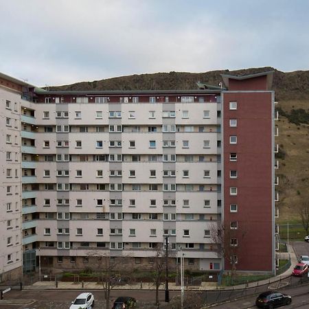
POLYGON ((307 0, 0 0, 0 72, 37 86, 309 69, 307 0))

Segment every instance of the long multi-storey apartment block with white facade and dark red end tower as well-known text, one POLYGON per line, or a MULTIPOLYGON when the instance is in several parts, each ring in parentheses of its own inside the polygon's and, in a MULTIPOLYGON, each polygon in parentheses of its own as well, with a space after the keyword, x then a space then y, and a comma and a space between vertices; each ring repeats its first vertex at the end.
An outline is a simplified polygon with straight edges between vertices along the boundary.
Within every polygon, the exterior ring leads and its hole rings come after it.
POLYGON ((1 273, 22 252, 24 271, 102 255, 151 268, 166 237, 171 267, 184 254, 194 270, 273 271, 272 78, 45 91, 0 74, 1 273))

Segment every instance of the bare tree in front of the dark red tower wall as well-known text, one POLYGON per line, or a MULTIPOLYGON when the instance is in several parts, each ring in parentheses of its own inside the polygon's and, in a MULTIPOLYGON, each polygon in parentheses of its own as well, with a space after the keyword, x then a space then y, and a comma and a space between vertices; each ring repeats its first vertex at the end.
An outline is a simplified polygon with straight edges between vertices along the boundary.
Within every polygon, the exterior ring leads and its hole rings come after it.
POLYGON ((238 253, 241 243, 246 234, 246 229, 238 226, 238 222, 214 222, 210 227, 211 242, 215 244, 214 250, 221 258, 231 264, 231 279, 236 275, 238 264, 238 253))

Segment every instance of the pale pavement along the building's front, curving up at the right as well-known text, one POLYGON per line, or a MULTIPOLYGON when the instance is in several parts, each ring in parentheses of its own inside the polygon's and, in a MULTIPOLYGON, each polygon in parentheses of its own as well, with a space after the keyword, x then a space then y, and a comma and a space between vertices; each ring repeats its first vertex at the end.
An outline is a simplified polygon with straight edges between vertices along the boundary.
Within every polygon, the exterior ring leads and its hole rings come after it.
MULTIPOLYGON (((259 282, 249 282, 248 284, 240 284, 238 286, 233 286, 233 290, 242 290, 244 288, 255 288, 256 286, 262 286, 264 284, 271 284, 272 282, 277 282, 280 279, 285 279, 289 277, 293 271, 293 267, 297 264, 297 255, 293 249, 293 246, 288 244, 287 253, 279 253, 279 258, 284 260, 290 259, 290 267, 282 274, 271 277, 270 279, 261 280, 259 282)), ((176 285, 173 282, 168 284, 170 290, 181 290, 181 286, 176 285)), ((160 289, 164 289, 164 285, 161 285, 160 289)), ((35 282, 31 286, 23 286, 24 290, 44 290, 44 289, 56 289, 56 282, 35 282)), ((85 290, 96 290, 102 289, 102 284, 96 282, 58 282, 57 289, 85 289, 85 290)), ((115 286, 113 290, 155 290, 155 285, 151 282, 142 282, 137 284, 124 284, 121 286, 115 286)), ((217 286, 216 282, 202 282, 200 286, 186 286, 185 290, 196 290, 196 291, 205 291, 205 290, 231 290, 231 286, 217 286)))

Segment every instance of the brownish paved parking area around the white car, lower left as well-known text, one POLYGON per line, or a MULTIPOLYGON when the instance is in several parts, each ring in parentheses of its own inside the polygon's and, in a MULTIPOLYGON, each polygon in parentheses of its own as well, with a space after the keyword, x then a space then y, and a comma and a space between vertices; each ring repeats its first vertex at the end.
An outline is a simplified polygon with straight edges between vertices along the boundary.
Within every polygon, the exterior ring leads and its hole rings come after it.
MULTIPOLYGON (((69 308, 71 301, 84 291, 82 290, 11 290, 5 293, 4 300, 14 300, 17 304, 1 304, 0 309, 65 309, 69 308), (21 300, 21 301, 18 301, 21 300)), ((104 307, 104 292, 102 290, 87 290, 95 297, 95 308, 104 307)), ((179 292, 170 291, 170 298, 179 295, 179 292)), ((112 290, 111 306, 118 296, 135 297, 139 302, 155 303, 155 290, 112 290)), ((164 303, 165 291, 159 291, 159 299, 164 303)))

